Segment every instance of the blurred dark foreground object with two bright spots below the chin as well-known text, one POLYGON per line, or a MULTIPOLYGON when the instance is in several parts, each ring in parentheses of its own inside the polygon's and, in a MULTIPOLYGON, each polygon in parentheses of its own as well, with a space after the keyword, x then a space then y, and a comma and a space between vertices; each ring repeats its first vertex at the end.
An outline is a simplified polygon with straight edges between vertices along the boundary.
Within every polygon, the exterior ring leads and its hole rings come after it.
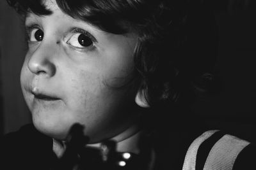
POLYGON ((74 124, 67 137, 67 148, 56 162, 54 170, 143 170, 139 155, 116 152, 115 141, 104 141, 100 148, 86 147, 88 136, 83 135, 84 127, 74 124))

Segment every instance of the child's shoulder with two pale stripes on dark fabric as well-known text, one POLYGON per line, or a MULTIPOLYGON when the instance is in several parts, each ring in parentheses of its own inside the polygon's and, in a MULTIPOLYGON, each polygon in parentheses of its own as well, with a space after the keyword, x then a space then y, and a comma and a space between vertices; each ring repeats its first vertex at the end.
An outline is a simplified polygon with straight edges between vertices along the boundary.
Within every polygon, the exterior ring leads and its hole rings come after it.
POLYGON ((184 169, 243 169, 256 160, 255 145, 222 131, 207 131, 189 146, 184 169))

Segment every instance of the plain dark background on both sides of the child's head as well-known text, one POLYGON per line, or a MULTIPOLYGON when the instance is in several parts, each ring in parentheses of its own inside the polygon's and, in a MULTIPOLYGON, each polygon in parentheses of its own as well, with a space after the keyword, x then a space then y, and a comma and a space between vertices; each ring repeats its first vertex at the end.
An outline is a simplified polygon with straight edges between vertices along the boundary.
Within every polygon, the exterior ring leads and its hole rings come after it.
MULTIPOLYGON (((212 0, 211 6, 220 34, 216 72, 220 73, 222 88, 216 94, 198 97, 193 108, 209 126, 255 135, 256 1, 212 0)), ((1 0, 0 134, 16 131, 31 121, 19 83, 26 53, 19 19, 1 0)))

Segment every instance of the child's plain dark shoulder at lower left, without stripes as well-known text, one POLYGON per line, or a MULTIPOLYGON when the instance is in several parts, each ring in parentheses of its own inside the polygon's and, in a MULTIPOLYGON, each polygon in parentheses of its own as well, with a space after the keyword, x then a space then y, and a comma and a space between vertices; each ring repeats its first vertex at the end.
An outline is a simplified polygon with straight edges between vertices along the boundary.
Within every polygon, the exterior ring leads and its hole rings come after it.
POLYGON ((24 125, 19 131, 0 138, 0 155, 4 158, 0 160, 1 167, 33 169, 33 165, 52 155, 52 139, 38 132, 33 125, 24 125))

